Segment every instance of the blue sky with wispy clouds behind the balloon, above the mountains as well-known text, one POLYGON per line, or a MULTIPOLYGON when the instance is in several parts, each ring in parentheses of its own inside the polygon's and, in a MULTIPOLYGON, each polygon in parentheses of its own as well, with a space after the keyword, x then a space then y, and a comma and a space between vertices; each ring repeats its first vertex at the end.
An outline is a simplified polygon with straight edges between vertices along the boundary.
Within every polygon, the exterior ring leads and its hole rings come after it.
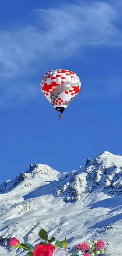
POLYGON ((104 150, 122 155, 121 1, 0 5, 0 182, 29 164, 65 172, 104 150), (81 79, 61 120, 40 90, 60 68, 81 79))

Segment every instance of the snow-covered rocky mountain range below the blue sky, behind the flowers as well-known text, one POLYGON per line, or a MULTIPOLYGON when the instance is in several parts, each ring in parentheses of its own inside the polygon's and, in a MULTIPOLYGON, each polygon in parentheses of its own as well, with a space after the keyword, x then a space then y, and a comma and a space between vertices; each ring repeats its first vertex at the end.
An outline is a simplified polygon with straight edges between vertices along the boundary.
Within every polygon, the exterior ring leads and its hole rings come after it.
POLYGON ((30 164, 0 186, 0 255, 25 255, 9 240, 15 236, 35 246, 41 227, 49 238, 66 236, 71 250, 87 239, 104 239, 109 255, 121 255, 121 219, 122 156, 104 151, 66 173, 30 164))

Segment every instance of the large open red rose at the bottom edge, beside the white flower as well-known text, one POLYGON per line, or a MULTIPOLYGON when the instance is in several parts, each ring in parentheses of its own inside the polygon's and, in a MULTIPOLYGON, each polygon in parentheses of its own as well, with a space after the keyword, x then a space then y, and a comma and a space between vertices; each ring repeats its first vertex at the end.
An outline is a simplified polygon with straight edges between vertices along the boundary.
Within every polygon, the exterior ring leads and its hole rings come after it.
POLYGON ((37 244, 33 251, 34 256, 52 256, 54 246, 51 243, 48 244, 37 244))

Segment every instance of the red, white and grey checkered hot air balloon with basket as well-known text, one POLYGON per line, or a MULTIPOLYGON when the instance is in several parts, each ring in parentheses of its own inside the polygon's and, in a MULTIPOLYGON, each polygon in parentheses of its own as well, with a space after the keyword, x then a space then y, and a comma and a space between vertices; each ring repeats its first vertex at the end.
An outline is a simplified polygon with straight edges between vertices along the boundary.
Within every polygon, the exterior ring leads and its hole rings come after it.
POLYGON ((41 78, 41 91, 54 106, 60 111, 59 118, 65 108, 78 94, 81 81, 79 77, 70 70, 54 69, 46 72, 41 78))

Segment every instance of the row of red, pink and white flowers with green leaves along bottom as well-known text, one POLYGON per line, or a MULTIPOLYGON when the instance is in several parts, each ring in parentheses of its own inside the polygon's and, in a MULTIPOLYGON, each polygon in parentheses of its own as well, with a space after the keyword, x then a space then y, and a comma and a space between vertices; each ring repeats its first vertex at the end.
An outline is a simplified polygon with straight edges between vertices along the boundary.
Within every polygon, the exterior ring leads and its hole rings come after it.
MULTIPOLYGON (((35 247, 29 243, 20 243, 15 237, 9 242, 11 247, 21 247, 28 251, 29 256, 104 256, 104 245, 103 240, 94 241, 94 245, 91 245, 91 241, 88 240, 87 243, 78 243, 75 251, 69 252, 67 248, 67 239, 63 241, 56 240, 54 237, 48 240, 48 234, 45 229, 41 228, 38 233, 39 237, 45 242, 40 242, 35 247)), ((107 256, 107 255, 106 255, 107 256)))

